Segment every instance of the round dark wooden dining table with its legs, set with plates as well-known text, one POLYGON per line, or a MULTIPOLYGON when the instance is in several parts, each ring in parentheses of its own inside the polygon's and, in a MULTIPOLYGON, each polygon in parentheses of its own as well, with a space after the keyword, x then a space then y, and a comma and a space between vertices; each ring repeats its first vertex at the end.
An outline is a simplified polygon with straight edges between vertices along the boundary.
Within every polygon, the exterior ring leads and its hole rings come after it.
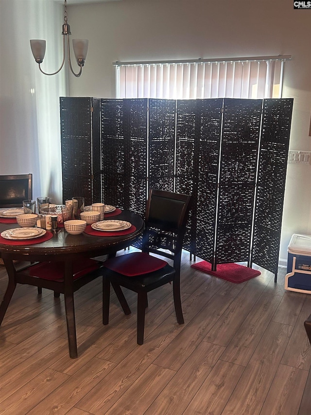
MULTIPOLYGON (((64 262, 64 279, 72 279, 72 269, 75 261, 102 255, 114 256, 117 251, 129 247, 137 241, 145 228, 142 217, 130 210, 116 209, 112 216, 105 214, 105 219, 118 219, 130 222, 131 227, 126 231, 102 232, 94 230, 91 225, 87 225, 85 231, 80 235, 70 235, 64 228, 59 227, 57 230, 46 231, 43 241, 40 240, 41 237, 31 240, 12 241, 0 236, 0 257, 3 259, 9 280, 8 289, 0 305, 0 325, 13 294, 13 292, 8 292, 10 291, 9 287, 11 286, 11 290, 14 291, 18 282, 24 283, 22 282, 23 275, 21 272, 21 276, 19 276, 16 261, 30 261, 32 263, 46 261, 64 262)), ((0 234, 8 229, 18 227, 19 225, 14 220, 0 220, 0 234)), ((74 325, 75 337, 74 309, 71 310, 70 314, 68 315, 66 311, 67 323, 71 320, 70 326, 74 325)), ((76 338, 72 340, 69 332, 68 335, 69 350, 71 348, 71 354, 74 355, 76 354, 76 338)))

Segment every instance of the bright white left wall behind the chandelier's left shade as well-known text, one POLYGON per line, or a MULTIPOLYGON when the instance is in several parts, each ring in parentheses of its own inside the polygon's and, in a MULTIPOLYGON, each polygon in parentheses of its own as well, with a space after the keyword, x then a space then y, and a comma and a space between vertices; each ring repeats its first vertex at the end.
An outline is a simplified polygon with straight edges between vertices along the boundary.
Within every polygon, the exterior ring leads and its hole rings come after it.
POLYGON ((62 62, 62 5, 0 0, 0 174, 33 173, 33 197, 62 201, 59 96, 65 71, 39 72, 30 39, 46 39, 43 70, 62 62), (54 39, 58 42, 54 43, 54 39))

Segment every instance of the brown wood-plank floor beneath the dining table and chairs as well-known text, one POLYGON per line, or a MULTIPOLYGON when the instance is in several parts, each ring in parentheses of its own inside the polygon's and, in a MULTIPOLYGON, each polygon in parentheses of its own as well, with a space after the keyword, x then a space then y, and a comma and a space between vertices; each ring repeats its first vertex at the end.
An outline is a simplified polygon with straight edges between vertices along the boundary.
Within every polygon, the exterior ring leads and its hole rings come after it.
MULTIPOLYGON (((135 295, 130 316, 112 296, 103 326, 100 279, 76 292, 74 360, 62 296, 18 286, 0 328, 0 414, 310 415, 311 296, 284 290, 284 268, 277 284, 261 269, 232 284, 190 265, 185 253, 185 325, 172 286, 155 290, 142 346, 135 295)), ((0 298, 6 281, 0 266, 0 298)))

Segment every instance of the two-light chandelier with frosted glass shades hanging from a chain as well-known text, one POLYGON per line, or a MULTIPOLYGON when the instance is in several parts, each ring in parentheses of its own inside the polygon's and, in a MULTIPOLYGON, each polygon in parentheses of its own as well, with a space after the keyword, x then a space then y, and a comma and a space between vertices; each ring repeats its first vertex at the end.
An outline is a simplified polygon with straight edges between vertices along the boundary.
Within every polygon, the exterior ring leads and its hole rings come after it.
POLYGON ((44 73, 45 75, 55 75, 64 66, 65 56, 66 56, 66 45, 67 45, 68 63, 69 63, 70 71, 75 76, 78 77, 78 76, 81 75, 82 67, 84 66, 85 61, 86 61, 88 40, 87 39, 72 39, 73 52, 74 52, 75 58, 77 60, 77 63, 80 66, 80 71, 78 73, 75 73, 72 69, 71 61, 70 61, 69 35, 71 35, 71 32, 70 32, 70 26, 68 24, 68 18, 67 18, 67 0, 65 0, 64 21, 65 21, 65 23, 63 24, 63 32, 62 32, 64 54, 63 54, 63 62, 62 62, 62 64, 61 64, 58 71, 53 72, 53 73, 46 73, 46 72, 42 71, 42 69, 41 69, 41 63, 43 62, 43 58, 44 58, 44 55, 45 55, 45 48, 46 48, 46 41, 45 40, 32 39, 30 41, 30 46, 31 46, 31 50, 33 52, 35 61, 39 65, 40 71, 42 73, 44 73), (67 41, 65 40, 66 37, 67 37, 67 41))

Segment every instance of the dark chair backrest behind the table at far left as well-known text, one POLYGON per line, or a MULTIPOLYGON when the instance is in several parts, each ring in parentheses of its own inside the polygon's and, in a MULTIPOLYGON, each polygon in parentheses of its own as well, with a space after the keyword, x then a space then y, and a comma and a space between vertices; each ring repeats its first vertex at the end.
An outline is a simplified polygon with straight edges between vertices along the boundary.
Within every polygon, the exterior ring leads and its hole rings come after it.
POLYGON ((20 207, 32 198, 32 173, 0 176, 0 208, 20 207))

